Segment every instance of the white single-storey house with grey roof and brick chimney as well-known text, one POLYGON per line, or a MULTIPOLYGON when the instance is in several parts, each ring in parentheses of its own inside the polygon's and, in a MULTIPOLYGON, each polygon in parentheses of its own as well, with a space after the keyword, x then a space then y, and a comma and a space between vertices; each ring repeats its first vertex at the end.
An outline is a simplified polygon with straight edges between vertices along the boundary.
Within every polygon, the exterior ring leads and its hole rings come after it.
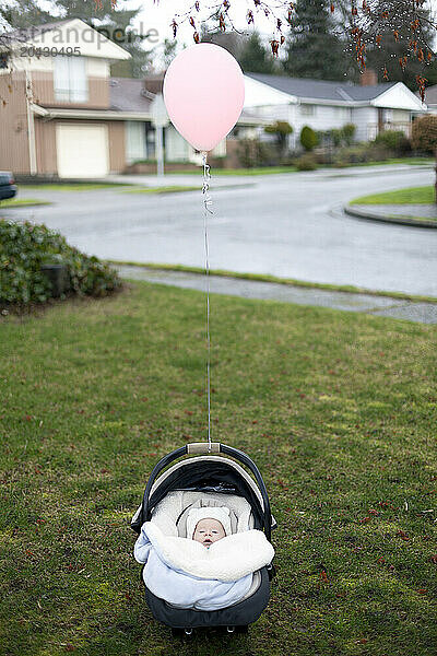
POLYGON ((377 84, 367 71, 362 84, 248 73, 245 108, 271 120, 286 120, 294 128, 290 145, 298 142, 302 128, 314 130, 356 126, 356 141, 369 141, 383 130, 410 134, 411 122, 426 112, 402 82, 377 84))

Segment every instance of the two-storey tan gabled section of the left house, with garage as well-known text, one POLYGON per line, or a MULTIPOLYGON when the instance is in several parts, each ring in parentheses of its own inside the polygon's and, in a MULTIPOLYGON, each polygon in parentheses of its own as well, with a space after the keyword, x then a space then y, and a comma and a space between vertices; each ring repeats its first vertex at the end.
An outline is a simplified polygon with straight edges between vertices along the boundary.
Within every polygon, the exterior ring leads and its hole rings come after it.
POLYGON ((15 32, 0 59, 0 167, 99 177, 125 164, 126 119, 113 112, 109 66, 130 55, 75 19, 15 32))

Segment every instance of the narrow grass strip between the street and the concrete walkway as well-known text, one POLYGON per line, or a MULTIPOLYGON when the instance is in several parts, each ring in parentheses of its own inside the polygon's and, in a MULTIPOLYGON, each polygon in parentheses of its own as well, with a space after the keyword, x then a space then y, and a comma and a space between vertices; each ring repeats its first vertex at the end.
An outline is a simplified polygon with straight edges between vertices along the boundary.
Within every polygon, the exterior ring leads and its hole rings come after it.
MULTIPOLYGON (((153 269, 157 271, 184 271, 186 273, 197 273, 204 276, 205 270, 202 267, 187 267, 185 265, 164 265, 154 262, 133 262, 125 260, 105 260, 108 265, 122 266, 122 267, 141 267, 143 269, 153 269)), ((403 301, 412 301, 415 303, 437 303, 435 296, 421 296, 416 294, 406 294, 403 292, 385 292, 368 290, 365 288, 357 288, 354 285, 341 285, 341 284, 329 284, 322 282, 307 282, 304 280, 296 280, 293 278, 277 278, 267 273, 240 273, 238 271, 227 271, 224 269, 210 269, 211 276, 218 276, 222 278, 236 278, 243 280, 253 280, 257 282, 274 282, 277 284, 286 284, 291 286, 300 286, 318 290, 328 290, 334 292, 345 292, 347 294, 370 294, 373 296, 386 296, 389 298, 399 298, 403 301)))

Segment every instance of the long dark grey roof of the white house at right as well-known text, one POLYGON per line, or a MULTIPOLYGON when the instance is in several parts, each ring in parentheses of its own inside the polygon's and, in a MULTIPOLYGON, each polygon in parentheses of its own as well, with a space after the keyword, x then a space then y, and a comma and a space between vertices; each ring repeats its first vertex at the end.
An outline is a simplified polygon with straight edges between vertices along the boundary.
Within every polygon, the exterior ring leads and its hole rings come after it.
POLYGON ((268 84, 277 91, 300 98, 335 102, 371 101, 397 82, 385 82, 371 86, 362 86, 351 82, 330 82, 308 80, 306 78, 286 78, 285 75, 267 75, 263 73, 246 73, 252 80, 268 84))

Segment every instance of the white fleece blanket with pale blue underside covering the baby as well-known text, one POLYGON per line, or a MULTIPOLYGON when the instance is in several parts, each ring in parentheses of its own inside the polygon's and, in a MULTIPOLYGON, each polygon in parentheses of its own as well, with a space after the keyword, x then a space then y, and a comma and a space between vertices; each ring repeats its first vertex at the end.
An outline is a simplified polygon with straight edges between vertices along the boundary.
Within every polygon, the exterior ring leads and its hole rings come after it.
POLYGON ((133 553, 145 563, 143 579, 156 597, 181 608, 216 610, 247 595, 252 573, 272 561, 274 550, 256 529, 227 536, 206 549, 194 540, 166 536, 145 522, 133 553))

